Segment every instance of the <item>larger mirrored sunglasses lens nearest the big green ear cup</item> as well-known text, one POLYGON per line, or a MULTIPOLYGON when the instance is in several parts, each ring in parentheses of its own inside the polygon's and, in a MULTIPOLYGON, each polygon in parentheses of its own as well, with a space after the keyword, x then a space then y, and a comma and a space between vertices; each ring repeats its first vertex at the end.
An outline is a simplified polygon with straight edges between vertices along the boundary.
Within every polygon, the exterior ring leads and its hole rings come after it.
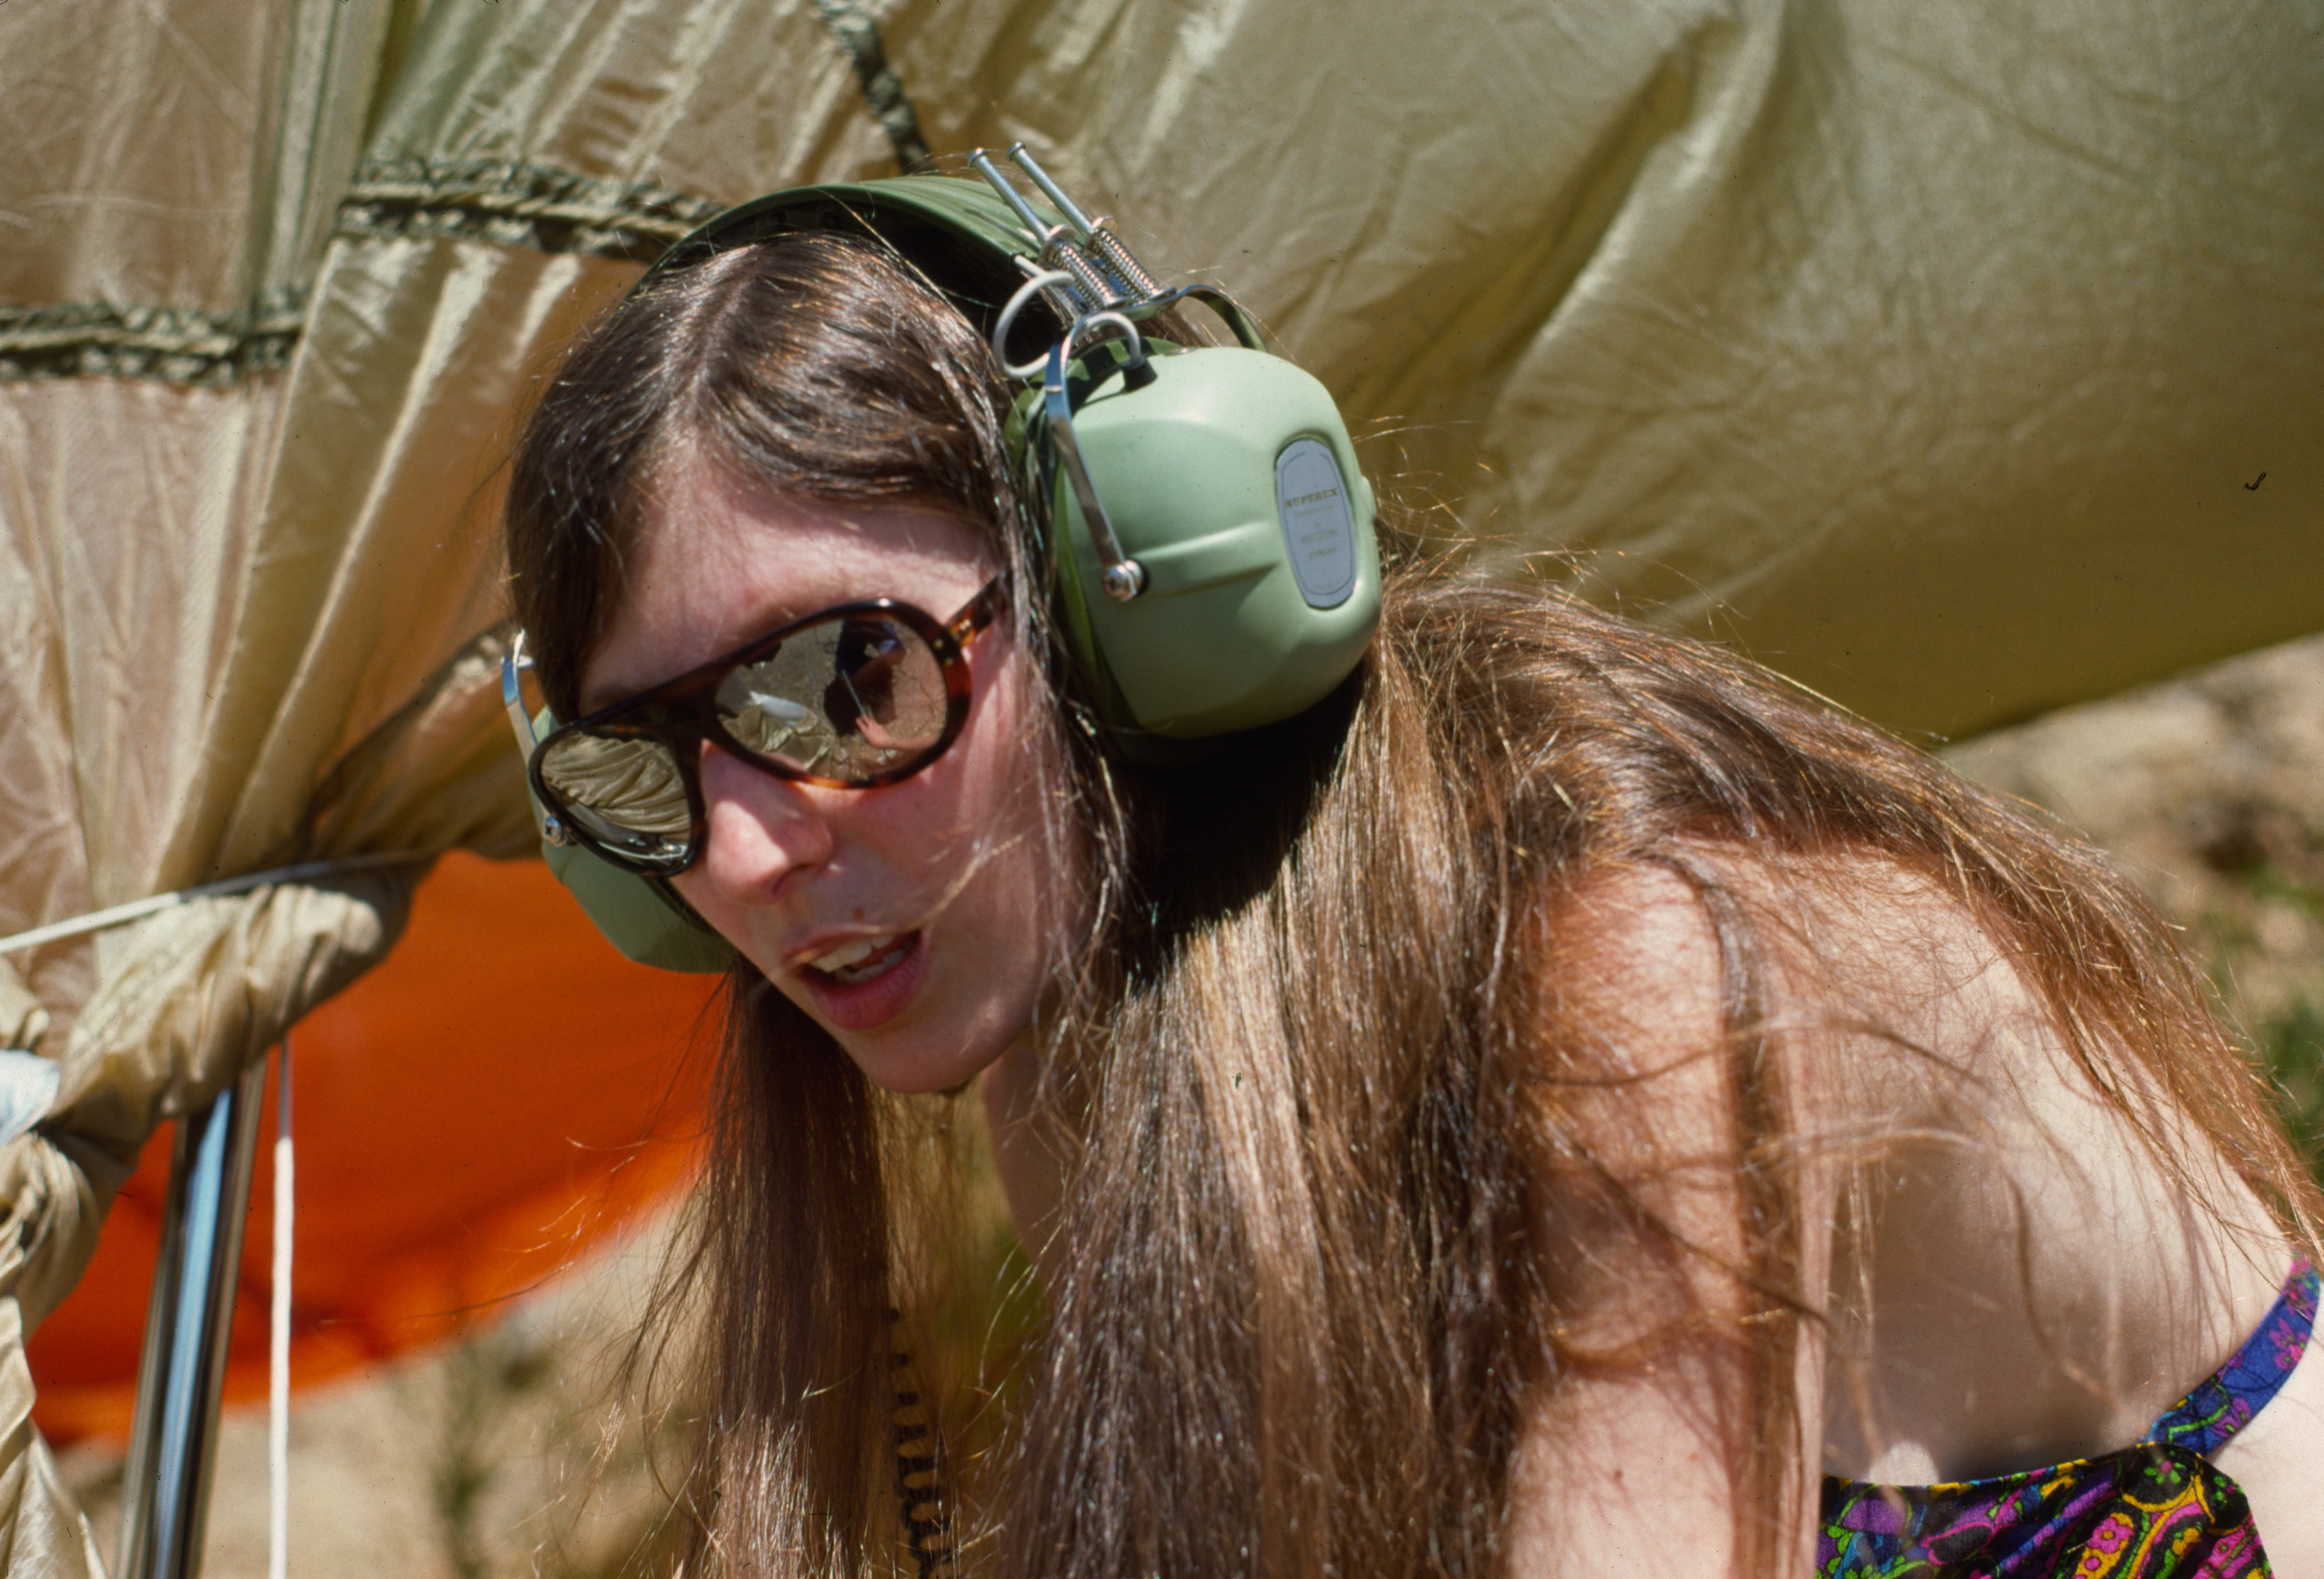
POLYGON ((739 663, 718 686, 734 744, 818 779, 869 781, 944 742, 944 665, 927 640, 885 614, 804 626, 739 663))

